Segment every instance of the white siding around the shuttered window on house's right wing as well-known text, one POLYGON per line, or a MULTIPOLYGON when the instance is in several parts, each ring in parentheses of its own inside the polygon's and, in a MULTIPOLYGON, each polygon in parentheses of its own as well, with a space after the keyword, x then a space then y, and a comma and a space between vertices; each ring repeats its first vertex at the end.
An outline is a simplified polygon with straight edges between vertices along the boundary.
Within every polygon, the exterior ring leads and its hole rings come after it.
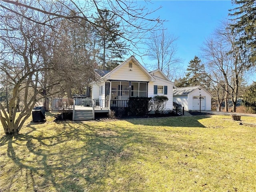
POLYGON ((154 85, 160 85, 160 86, 167 86, 167 95, 164 94, 160 94, 160 95, 164 95, 168 97, 168 101, 166 103, 166 108, 168 108, 168 110, 172 110, 173 109, 173 105, 172 105, 172 87, 173 84, 167 83, 167 82, 162 82, 160 80, 156 80, 155 82, 149 82, 148 83, 148 97, 154 97, 156 95, 154 95, 154 85))

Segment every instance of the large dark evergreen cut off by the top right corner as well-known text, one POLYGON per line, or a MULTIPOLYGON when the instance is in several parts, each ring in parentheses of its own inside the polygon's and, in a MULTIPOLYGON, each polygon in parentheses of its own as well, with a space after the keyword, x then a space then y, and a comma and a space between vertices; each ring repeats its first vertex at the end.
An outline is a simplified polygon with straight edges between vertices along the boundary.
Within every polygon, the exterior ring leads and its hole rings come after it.
POLYGON ((243 50, 248 65, 256 66, 256 0, 232 0, 238 7, 230 10, 235 16, 231 28, 239 34, 237 44, 243 50))

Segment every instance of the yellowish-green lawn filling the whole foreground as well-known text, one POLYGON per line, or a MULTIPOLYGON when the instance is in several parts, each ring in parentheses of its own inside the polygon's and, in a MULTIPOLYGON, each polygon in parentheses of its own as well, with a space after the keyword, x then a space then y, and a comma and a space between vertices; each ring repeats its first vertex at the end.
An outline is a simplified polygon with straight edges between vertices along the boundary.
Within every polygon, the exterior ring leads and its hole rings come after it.
POLYGON ((0 191, 256 191, 256 128, 230 116, 46 118, 12 138, 0 124, 0 191))

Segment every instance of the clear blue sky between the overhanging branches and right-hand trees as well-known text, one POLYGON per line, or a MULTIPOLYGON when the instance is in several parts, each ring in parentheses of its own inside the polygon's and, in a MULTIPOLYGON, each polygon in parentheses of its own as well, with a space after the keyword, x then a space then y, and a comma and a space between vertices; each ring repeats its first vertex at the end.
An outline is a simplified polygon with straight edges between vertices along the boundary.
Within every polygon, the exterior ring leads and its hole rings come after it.
MULTIPOLYGON (((145 4, 144 1, 137 3, 145 4)), ((164 28, 178 37, 176 56, 184 60, 184 71, 195 55, 200 57, 200 46, 204 40, 214 32, 222 20, 228 18, 228 10, 235 7, 231 0, 154 0, 147 4, 148 10, 155 10, 160 6, 162 8, 152 16, 168 20, 164 22, 164 28)), ((148 60, 146 57, 143 59, 148 60)))

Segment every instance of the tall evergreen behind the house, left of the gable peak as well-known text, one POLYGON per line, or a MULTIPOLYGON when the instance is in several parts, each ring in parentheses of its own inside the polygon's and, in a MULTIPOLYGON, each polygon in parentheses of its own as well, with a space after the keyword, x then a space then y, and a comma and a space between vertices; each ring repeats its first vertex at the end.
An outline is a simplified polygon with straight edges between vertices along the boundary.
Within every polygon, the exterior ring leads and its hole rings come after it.
POLYGON ((114 69, 123 60, 123 55, 126 54, 126 44, 121 41, 118 34, 120 31, 119 22, 110 13, 104 9, 99 11, 99 16, 95 18, 95 23, 102 26, 96 28, 95 35, 98 37, 98 45, 101 49, 99 59, 101 60, 100 68, 103 70, 114 69))

